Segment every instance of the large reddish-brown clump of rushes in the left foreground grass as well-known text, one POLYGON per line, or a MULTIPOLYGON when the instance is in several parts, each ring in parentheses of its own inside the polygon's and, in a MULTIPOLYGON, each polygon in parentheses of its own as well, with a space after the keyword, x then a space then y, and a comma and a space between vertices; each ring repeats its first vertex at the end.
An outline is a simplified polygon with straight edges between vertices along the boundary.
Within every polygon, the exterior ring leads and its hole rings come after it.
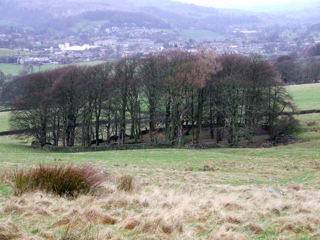
POLYGON ((16 195, 38 189, 59 196, 76 197, 78 194, 96 190, 103 180, 104 175, 91 164, 39 164, 26 171, 19 169, 13 172, 13 188, 16 195))

